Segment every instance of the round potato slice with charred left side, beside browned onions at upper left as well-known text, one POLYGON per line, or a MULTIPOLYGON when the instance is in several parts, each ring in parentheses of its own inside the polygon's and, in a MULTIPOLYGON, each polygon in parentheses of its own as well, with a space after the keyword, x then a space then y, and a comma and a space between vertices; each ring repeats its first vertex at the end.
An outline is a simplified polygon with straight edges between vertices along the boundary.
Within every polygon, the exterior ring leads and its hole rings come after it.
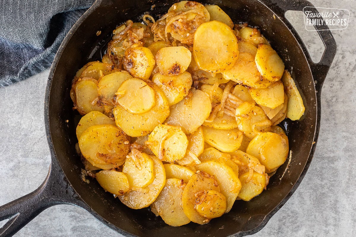
POLYGON ((126 49, 122 63, 133 77, 147 80, 155 66, 155 57, 150 49, 139 46, 126 49))

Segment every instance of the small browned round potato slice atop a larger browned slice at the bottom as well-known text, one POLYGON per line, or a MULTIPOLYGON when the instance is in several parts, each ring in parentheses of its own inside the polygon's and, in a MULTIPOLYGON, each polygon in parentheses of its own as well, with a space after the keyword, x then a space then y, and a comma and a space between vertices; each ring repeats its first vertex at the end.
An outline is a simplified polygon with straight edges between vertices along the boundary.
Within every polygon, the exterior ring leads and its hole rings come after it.
POLYGON ((215 190, 204 191, 198 196, 199 203, 195 205, 195 210, 206 218, 213 219, 222 216, 226 211, 225 196, 215 190))

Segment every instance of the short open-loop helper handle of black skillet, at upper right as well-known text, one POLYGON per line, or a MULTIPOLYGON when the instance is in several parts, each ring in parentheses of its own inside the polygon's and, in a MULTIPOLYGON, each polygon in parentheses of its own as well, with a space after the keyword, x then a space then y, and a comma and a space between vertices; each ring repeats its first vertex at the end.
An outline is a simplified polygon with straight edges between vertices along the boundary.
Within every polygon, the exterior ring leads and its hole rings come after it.
MULTIPOLYGON (((277 6, 281 9, 280 12, 282 14, 281 18, 283 18, 284 20, 286 20, 284 14, 288 10, 303 11, 304 7, 314 7, 314 5, 307 0, 293 0, 293 1, 272 0, 272 1, 276 3, 277 6)), ((313 11, 315 13, 319 13, 318 10, 316 10, 315 8, 313 9, 313 11)), ((319 19, 322 19, 322 17, 319 17, 319 19)), ((289 29, 291 29, 292 27, 289 22, 287 26, 289 27, 289 29)), ((323 83, 325 81, 325 77, 328 74, 331 63, 333 63, 337 51, 337 46, 333 34, 331 33, 328 26, 314 26, 314 28, 317 30, 319 37, 321 38, 321 41, 325 46, 325 50, 323 56, 321 56, 319 63, 314 63, 310 58, 309 53, 307 53, 308 55, 307 60, 310 65, 310 69, 312 70, 314 83, 315 83, 315 90, 320 94, 321 87, 323 86, 323 83)), ((293 27, 292 29, 293 31, 295 31, 293 27)))

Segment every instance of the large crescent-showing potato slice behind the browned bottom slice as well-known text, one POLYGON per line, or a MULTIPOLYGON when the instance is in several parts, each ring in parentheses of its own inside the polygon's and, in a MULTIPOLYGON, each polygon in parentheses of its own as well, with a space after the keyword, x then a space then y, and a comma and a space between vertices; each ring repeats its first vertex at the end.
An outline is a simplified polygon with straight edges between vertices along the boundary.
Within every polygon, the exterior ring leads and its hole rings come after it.
MULTIPOLYGON (((237 174, 224 163, 215 160, 204 161, 195 166, 196 169, 214 174, 220 187, 220 193, 226 198, 226 211, 229 212, 241 189, 241 182, 237 174)), ((193 178, 193 177, 192 177, 193 178)))

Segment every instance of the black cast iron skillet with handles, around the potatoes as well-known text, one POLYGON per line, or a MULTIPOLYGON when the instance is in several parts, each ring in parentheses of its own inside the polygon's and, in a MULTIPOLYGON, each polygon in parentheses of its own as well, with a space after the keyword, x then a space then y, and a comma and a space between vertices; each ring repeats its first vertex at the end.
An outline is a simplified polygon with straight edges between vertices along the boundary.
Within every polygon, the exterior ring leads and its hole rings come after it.
POLYGON ((75 72, 88 61, 100 59, 101 47, 117 24, 148 11, 154 16, 166 12, 175 1, 98 0, 75 23, 54 58, 45 98, 45 123, 52 163, 48 176, 38 189, 0 207, 0 237, 12 236, 46 208, 72 204, 124 236, 245 236, 261 230, 293 194, 307 171, 315 151, 320 126, 320 92, 336 53, 336 43, 328 27, 318 26, 325 52, 313 63, 297 32, 284 17, 287 10, 301 11, 313 6, 305 0, 206 0, 217 4, 234 22, 258 26, 283 59, 286 69, 298 82, 306 107, 302 121, 286 119, 292 159, 272 176, 267 190, 249 202, 236 201, 231 211, 206 225, 189 223, 181 227, 166 225, 147 208, 132 210, 105 193, 99 184, 80 178, 82 163, 75 152, 75 112, 69 97, 75 72), (154 7, 151 7, 154 6, 154 7), (273 17, 274 16, 274 17, 273 17), (101 35, 96 32, 101 30, 101 35), (69 120, 69 122, 66 122, 69 120))

